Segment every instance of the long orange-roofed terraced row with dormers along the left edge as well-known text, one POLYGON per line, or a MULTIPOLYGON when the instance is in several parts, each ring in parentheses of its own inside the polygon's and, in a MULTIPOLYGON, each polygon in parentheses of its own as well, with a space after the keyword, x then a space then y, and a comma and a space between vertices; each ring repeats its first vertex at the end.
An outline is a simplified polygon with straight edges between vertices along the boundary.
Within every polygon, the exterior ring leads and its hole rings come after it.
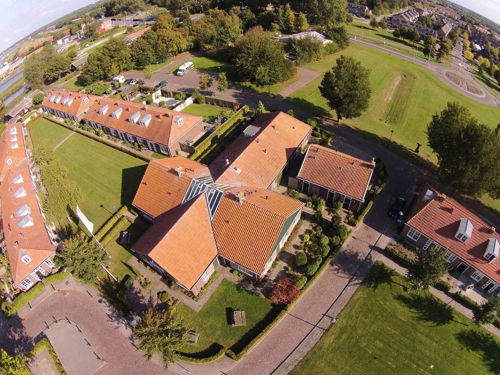
POLYGON ((0 155, 2 249, 7 252, 14 287, 27 290, 54 267, 55 242, 41 210, 20 123, 5 128, 0 155))

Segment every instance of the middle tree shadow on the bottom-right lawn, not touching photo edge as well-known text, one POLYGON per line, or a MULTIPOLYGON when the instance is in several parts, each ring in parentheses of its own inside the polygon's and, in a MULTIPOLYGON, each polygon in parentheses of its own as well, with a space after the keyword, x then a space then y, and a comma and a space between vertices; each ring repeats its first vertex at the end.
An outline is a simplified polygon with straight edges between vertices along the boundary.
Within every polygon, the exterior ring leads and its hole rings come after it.
POLYGON ((452 307, 443 304, 439 299, 433 296, 422 297, 415 294, 398 294, 396 295, 396 299, 413 310, 416 318, 428 321, 434 324, 434 326, 448 324, 451 321, 464 324, 453 319, 452 307))

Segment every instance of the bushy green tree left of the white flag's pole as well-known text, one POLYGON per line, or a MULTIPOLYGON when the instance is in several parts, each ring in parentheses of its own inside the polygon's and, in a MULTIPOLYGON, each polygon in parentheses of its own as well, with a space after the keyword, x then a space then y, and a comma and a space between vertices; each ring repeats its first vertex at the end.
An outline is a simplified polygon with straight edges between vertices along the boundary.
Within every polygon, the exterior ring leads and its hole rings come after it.
POLYGON ((54 262, 90 283, 99 274, 100 265, 109 264, 109 256, 93 240, 83 235, 73 235, 62 242, 62 250, 55 254, 54 262))

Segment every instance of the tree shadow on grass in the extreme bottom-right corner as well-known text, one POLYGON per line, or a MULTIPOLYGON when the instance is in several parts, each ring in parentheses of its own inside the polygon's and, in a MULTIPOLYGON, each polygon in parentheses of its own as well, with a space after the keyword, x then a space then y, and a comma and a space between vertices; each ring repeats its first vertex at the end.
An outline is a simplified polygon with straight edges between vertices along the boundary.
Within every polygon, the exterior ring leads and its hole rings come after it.
POLYGON ((500 374, 500 343, 488 332, 462 329, 455 333, 455 338, 467 350, 479 352, 482 362, 489 371, 500 374))

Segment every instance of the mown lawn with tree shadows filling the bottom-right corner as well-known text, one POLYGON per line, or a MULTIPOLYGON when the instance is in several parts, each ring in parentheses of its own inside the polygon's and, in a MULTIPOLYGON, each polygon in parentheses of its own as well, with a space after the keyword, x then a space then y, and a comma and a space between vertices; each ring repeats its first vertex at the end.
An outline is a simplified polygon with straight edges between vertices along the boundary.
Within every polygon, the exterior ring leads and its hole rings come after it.
POLYGON ((401 282, 375 263, 292 374, 498 373, 498 338, 429 293, 403 291, 401 282))

